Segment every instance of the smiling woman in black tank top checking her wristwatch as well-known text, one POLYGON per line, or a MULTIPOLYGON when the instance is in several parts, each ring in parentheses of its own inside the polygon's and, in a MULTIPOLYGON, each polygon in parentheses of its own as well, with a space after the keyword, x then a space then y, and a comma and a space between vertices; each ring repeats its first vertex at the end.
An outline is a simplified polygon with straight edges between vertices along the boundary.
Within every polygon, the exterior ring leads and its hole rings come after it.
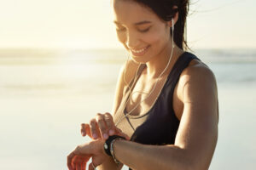
POLYGON ((183 51, 188 0, 113 0, 122 67, 112 114, 82 124, 69 169, 207 169, 218 139, 212 71, 183 51), (125 137, 125 138, 122 138, 125 137), (104 147, 103 147, 104 146, 104 147))

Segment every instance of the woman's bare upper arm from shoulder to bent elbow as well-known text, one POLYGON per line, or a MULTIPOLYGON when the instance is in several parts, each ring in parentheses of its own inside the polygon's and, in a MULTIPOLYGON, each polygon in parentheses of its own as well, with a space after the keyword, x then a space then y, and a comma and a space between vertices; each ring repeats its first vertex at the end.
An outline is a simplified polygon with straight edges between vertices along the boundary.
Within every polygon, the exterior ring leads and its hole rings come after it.
POLYGON ((207 169, 218 139, 218 93, 212 71, 193 65, 183 71, 183 115, 175 145, 187 152, 189 161, 207 169), (196 162, 196 163, 195 163, 196 162))

